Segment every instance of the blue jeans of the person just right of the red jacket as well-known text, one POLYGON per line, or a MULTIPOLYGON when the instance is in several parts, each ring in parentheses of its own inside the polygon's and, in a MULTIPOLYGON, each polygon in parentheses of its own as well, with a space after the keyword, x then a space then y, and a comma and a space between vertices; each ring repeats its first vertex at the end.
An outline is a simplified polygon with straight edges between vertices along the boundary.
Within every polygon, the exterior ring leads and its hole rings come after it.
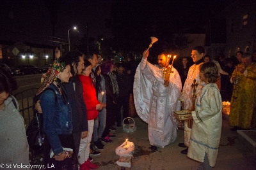
POLYGON ((102 138, 102 133, 106 127, 106 118, 106 108, 102 108, 102 110, 99 110, 99 116, 94 119, 93 141, 97 141, 99 138, 102 138))

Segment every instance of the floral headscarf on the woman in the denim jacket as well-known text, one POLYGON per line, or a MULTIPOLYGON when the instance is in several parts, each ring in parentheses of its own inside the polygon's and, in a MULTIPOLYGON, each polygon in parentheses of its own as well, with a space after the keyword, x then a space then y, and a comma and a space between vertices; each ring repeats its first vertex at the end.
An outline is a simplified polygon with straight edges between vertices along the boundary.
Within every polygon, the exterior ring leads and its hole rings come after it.
POLYGON ((65 62, 61 62, 60 59, 54 60, 53 64, 49 67, 47 73, 42 75, 41 79, 41 87, 39 88, 36 95, 42 93, 44 89, 49 87, 53 81, 57 80, 57 74, 65 69, 66 64, 65 62))

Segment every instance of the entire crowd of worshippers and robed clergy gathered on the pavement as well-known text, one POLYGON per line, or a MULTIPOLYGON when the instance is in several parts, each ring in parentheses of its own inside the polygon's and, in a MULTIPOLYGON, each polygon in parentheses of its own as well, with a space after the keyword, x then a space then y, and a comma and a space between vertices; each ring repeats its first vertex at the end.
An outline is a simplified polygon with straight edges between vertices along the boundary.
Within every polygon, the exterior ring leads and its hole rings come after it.
MULTIPOLYGON (((185 148, 181 153, 202 162, 199 169, 212 169, 216 164, 222 101, 231 101, 232 131, 254 125, 256 56, 239 51, 236 59, 224 62, 225 57, 219 56, 211 60, 203 46, 196 46, 191 51, 193 65, 189 66, 188 57, 182 57, 173 67, 166 53, 159 53, 156 65, 147 61, 148 54, 148 50, 143 52, 137 67, 131 55, 127 63, 115 64, 103 61, 97 53, 56 53, 34 97, 34 110, 44 119, 45 167, 97 169, 91 156, 100 155, 98 150, 113 142, 115 127, 129 117, 131 95, 138 116, 148 123, 152 151, 176 140, 179 120, 173 111, 191 111, 184 122, 184 143, 179 146, 185 148), (221 90, 225 96, 221 97, 221 90)), ((0 138, 12 139, 12 143, 4 140, 1 144, 11 149, 4 150, 0 160, 7 163, 15 155, 16 162, 28 164, 24 119, 17 100, 10 95, 17 83, 1 68, 0 80, 0 121, 6 124, 0 138)))

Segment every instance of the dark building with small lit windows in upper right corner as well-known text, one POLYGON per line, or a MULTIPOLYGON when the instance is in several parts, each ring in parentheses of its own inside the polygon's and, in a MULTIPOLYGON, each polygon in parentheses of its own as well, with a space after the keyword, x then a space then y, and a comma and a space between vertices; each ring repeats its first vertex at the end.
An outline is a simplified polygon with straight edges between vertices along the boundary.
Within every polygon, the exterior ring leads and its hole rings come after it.
POLYGON ((236 1, 222 13, 227 21, 227 55, 234 56, 238 50, 252 53, 256 49, 256 1, 236 1))

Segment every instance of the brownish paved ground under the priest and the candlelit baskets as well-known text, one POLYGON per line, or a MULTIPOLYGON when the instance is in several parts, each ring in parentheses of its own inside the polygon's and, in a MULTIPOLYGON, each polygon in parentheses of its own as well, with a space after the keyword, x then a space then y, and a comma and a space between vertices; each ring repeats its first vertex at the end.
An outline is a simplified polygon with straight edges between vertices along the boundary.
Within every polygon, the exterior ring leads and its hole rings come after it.
MULTIPOLYGON (((135 152, 132 159, 132 170, 196 170, 199 162, 189 159, 186 155, 180 153, 179 143, 184 139, 184 131, 178 130, 177 140, 164 148, 158 148, 157 151, 152 152, 148 142, 147 124, 140 118, 134 118, 136 122, 137 131, 126 133, 122 127, 118 127, 113 134, 116 138, 113 143, 105 144, 104 150, 99 156, 93 157, 93 163, 99 164, 100 169, 114 170, 117 169, 115 164, 118 160, 118 155, 115 154, 115 149, 120 146, 126 138, 132 141, 135 145, 135 152)), ((214 170, 249 170, 256 169, 256 153, 249 150, 237 138, 237 132, 230 131, 227 120, 223 120, 221 134, 221 143, 218 154, 218 159, 214 170)))

